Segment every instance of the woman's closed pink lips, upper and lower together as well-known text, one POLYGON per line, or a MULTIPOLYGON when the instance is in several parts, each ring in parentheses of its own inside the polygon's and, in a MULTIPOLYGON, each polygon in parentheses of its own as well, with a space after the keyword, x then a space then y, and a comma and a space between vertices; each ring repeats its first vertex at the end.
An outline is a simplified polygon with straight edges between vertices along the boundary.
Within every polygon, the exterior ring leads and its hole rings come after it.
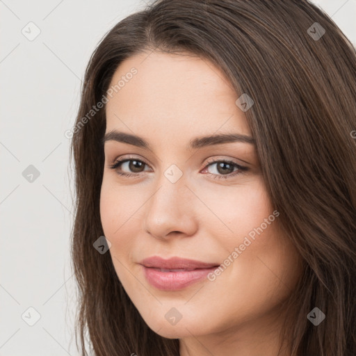
POLYGON ((207 277, 219 266, 219 264, 209 264, 192 259, 181 259, 179 257, 162 259, 156 256, 143 259, 140 264, 143 266, 147 281, 163 291, 176 291, 190 286, 207 277), (186 270, 163 272, 161 268, 186 270))

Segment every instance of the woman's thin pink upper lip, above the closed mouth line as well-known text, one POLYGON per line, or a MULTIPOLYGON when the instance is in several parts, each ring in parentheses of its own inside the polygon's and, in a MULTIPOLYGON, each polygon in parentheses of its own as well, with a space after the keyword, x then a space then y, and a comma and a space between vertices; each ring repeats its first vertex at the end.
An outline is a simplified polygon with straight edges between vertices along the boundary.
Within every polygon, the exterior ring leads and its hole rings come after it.
POLYGON ((211 268, 219 266, 219 264, 210 264, 202 261, 195 261, 193 259, 182 259, 180 257, 171 257, 170 259, 163 259, 159 256, 152 256, 140 261, 145 267, 152 268, 166 268, 166 269, 182 269, 182 268, 211 268))

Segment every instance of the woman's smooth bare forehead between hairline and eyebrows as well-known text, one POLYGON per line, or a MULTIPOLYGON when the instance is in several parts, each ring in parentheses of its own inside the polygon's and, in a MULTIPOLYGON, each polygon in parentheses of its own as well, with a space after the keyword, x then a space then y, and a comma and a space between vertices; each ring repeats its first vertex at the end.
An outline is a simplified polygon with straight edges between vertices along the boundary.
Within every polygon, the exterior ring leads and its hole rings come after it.
POLYGON ((106 104, 106 131, 129 129, 143 135, 154 131, 166 138, 220 129, 251 134, 231 83, 206 59, 138 54, 120 64, 110 87, 116 90, 106 104))

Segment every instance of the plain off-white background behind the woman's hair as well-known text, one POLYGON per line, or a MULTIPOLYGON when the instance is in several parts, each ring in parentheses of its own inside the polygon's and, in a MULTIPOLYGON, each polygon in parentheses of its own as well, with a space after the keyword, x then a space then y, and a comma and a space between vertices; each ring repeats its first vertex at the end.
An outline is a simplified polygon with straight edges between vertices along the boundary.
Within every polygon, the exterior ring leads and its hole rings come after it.
MULTIPOLYGON (((356 46, 356 0, 314 2, 356 46)), ((0 356, 79 355, 64 133, 74 124, 90 54, 143 8, 139 0, 0 0, 0 356)))

